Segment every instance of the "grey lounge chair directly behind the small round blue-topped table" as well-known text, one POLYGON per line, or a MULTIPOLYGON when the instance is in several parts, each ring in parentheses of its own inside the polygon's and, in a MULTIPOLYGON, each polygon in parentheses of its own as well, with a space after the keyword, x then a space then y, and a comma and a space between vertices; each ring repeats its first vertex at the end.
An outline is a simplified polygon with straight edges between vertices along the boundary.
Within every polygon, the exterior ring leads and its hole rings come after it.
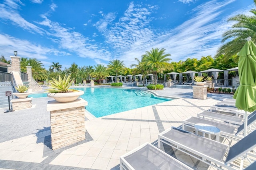
MULTIPOLYGON (((247 120, 247 126, 250 127, 253 125, 253 123, 256 121, 256 114, 252 115, 248 120, 247 120)), ((212 125, 220 129, 220 135, 223 137, 231 137, 232 139, 241 139, 241 137, 238 137, 237 135, 240 134, 242 131, 244 131, 244 123, 240 126, 228 124, 228 123, 222 123, 218 121, 212 121, 208 119, 203 119, 200 117, 189 117, 188 119, 185 119, 182 121, 182 129, 185 129, 185 126, 188 127, 194 127, 195 124, 197 123, 205 123, 208 125, 212 125), (234 132, 236 131, 235 135, 234 132)))

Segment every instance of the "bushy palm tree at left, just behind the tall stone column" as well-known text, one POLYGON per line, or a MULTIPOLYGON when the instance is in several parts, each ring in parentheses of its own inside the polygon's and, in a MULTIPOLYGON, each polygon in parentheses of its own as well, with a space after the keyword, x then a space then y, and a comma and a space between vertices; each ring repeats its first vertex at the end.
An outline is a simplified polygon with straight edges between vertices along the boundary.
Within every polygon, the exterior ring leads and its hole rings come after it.
POLYGON ((36 81, 46 80, 48 78, 47 70, 43 68, 44 65, 40 61, 38 61, 37 59, 28 59, 22 57, 20 61, 20 70, 22 72, 26 72, 26 66, 28 65, 32 66, 32 77, 36 81))

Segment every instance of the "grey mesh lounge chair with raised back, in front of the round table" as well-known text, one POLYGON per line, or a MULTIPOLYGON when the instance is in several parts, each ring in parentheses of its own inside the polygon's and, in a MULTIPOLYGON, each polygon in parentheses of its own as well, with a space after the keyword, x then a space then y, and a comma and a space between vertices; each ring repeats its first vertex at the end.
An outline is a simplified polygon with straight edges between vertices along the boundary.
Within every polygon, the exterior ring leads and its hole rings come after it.
POLYGON ((229 147, 223 143, 171 127, 158 135, 158 148, 161 147, 161 143, 165 143, 217 169, 237 170, 238 165, 232 163, 234 160, 242 158, 240 162, 240 168, 242 169, 243 159, 250 160, 247 154, 255 156, 250 152, 256 147, 255 135, 256 131, 253 131, 232 147, 229 147), (228 155, 224 158, 226 152, 228 152, 228 155))

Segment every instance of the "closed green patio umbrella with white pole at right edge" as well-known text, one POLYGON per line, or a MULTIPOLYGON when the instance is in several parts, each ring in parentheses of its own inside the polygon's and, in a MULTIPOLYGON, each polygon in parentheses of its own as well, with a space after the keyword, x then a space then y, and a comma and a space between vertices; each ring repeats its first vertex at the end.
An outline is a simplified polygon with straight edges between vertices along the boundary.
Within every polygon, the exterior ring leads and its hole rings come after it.
POLYGON ((236 107, 244 110, 244 136, 247 131, 247 111, 256 110, 256 45, 247 38, 244 47, 238 53, 238 70, 240 86, 233 98, 236 99, 236 107))

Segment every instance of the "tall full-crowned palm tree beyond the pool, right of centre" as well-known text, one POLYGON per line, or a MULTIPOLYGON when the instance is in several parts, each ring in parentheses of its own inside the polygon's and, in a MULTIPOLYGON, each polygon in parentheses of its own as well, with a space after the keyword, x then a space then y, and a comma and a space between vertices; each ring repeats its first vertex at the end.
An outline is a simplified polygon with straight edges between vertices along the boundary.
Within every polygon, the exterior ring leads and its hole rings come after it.
POLYGON ((172 64, 168 63, 171 59, 167 58, 171 56, 170 54, 165 54, 164 51, 166 49, 162 48, 159 51, 159 48, 155 48, 150 51, 146 51, 146 56, 144 61, 146 63, 146 67, 148 70, 152 71, 154 75, 154 84, 157 82, 157 73, 163 73, 164 70, 171 67, 172 64))

